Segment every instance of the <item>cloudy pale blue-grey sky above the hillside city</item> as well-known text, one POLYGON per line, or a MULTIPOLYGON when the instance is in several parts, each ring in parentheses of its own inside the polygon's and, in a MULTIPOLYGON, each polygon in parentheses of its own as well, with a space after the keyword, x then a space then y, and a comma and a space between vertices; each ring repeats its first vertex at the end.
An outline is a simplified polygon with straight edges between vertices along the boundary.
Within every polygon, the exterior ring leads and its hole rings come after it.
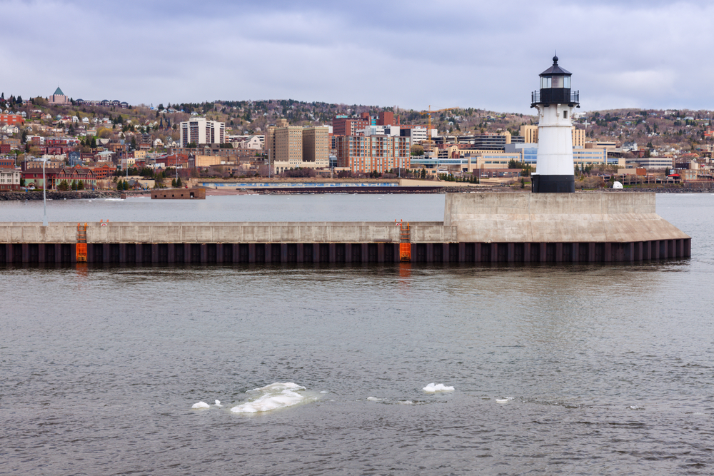
POLYGON ((532 113, 714 109, 714 2, 0 0, 0 91, 131 104, 296 99, 532 113))

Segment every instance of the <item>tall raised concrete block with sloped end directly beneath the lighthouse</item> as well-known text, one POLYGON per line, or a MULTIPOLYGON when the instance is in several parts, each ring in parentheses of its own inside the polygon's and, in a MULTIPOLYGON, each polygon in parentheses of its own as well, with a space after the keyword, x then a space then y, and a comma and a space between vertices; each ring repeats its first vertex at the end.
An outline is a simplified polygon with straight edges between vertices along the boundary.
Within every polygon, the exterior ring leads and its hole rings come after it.
POLYGON ((449 193, 445 226, 466 243, 628 243, 690 238, 654 193, 449 193))

